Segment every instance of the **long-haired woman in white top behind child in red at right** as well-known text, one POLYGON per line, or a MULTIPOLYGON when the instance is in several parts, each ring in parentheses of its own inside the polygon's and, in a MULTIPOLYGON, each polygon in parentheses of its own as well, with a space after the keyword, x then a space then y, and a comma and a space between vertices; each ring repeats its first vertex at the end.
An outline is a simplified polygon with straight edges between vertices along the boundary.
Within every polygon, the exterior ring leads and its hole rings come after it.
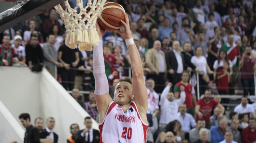
POLYGON ((223 68, 223 64, 226 61, 228 61, 228 63, 229 63, 229 72, 230 72, 230 75, 232 75, 233 74, 233 68, 232 68, 233 65, 232 65, 232 62, 230 60, 228 60, 227 51, 224 49, 220 49, 218 59, 215 60, 215 62, 213 64, 213 69, 214 69, 213 80, 214 81, 217 76, 217 71, 223 68))

